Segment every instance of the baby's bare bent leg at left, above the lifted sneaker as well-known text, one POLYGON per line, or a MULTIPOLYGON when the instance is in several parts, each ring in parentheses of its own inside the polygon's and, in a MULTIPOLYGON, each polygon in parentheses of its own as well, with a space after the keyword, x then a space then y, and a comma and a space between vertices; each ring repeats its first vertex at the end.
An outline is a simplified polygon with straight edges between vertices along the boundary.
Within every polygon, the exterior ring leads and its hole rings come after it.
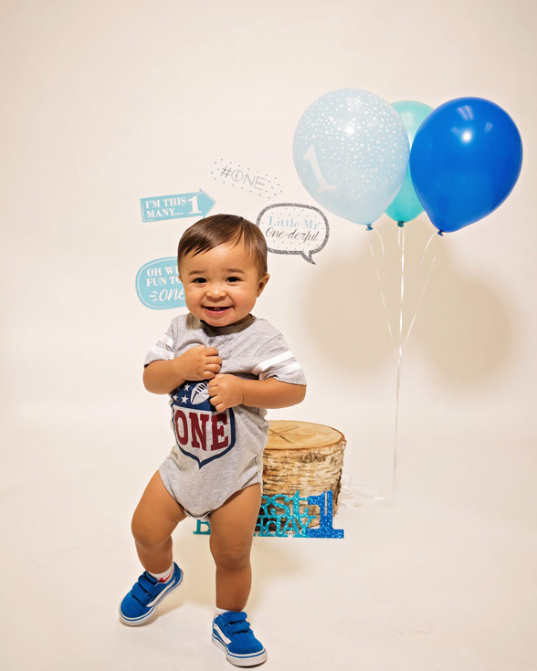
POLYGON ((134 511, 132 535, 145 570, 162 573, 173 563, 171 533, 185 512, 164 486, 157 471, 134 511))

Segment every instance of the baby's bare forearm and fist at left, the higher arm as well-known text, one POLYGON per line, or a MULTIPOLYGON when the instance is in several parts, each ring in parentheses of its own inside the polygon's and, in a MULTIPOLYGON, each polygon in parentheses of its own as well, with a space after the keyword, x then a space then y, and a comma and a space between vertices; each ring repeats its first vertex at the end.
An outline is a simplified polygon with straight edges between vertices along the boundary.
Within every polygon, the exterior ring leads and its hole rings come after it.
POLYGON ((187 380, 211 380, 222 367, 215 347, 196 345, 175 359, 159 359, 143 371, 145 389, 153 394, 170 394, 187 380))

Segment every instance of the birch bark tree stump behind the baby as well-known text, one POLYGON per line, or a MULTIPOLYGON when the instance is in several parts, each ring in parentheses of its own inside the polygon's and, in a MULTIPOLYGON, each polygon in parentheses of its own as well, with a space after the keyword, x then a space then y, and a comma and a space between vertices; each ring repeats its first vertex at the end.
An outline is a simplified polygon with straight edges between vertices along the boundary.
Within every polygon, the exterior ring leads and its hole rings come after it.
MULTIPOLYGON (((347 441, 341 431, 306 421, 269 421, 263 453, 263 493, 301 498, 333 492, 333 512, 338 510, 343 451, 347 441)), ((301 504, 301 512, 305 507, 301 504)), ((310 526, 318 526, 318 520, 310 526)))

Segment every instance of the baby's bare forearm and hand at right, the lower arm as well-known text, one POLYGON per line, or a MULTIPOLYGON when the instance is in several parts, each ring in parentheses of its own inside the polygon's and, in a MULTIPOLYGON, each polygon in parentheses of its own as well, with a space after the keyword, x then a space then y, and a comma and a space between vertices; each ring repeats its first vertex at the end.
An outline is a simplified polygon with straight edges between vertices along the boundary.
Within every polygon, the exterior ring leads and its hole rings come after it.
POLYGON ((274 377, 266 380, 243 380, 236 375, 215 375, 209 382, 210 402, 218 412, 228 407, 289 407, 301 403, 306 396, 306 386, 280 382, 274 377))

